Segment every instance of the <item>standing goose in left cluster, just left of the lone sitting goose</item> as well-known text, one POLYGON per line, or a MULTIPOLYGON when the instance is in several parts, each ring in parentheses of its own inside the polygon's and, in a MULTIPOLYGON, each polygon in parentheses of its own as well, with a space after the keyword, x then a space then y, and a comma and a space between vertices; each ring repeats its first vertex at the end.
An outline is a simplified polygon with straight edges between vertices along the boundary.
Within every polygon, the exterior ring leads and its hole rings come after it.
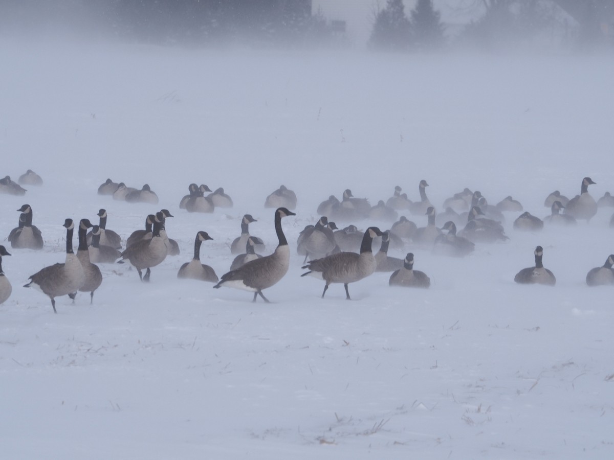
POLYGON ((164 214, 158 212, 153 220, 153 234, 150 239, 143 239, 134 243, 122 252, 122 259, 118 261, 123 264, 125 260, 136 267, 139 272, 141 281, 149 282, 151 267, 160 264, 168 253, 168 246, 165 239, 160 236, 160 231, 164 229, 165 217, 164 214), (142 269, 147 269, 145 276, 142 274, 142 269))

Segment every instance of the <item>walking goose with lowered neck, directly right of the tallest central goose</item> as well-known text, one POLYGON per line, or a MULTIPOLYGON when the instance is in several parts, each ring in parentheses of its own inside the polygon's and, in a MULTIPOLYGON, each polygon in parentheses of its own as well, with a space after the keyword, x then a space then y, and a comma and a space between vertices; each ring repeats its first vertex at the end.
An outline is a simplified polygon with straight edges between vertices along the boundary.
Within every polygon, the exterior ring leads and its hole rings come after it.
POLYGON ((311 275, 326 282, 322 292, 322 299, 324 299, 324 294, 331 283, 343 283, 346 289, 346 299, 351 300, 348 284, 362 280, 362 278, 368 277, 375 272, 377 262, 375 261, 375 256, 373 256, 371 245, 373 245, 373 238, 381 235, 382 232, 379 228, 369 227, 362 237, 360 254, 340 252, 322 259, 309 261, 308 264, 302 267, 309 271, 303 273, 301 277, 311 275))

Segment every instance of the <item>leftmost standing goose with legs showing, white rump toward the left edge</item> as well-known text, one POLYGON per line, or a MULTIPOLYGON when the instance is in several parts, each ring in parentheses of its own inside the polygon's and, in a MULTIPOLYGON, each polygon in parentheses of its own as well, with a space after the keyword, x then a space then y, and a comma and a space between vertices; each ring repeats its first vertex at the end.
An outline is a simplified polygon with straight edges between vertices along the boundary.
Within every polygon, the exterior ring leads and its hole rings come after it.
POLYGON ((53 313, 57 313, 55 297, 74 293, 85 281, 83 266, 72 251, 72 233, 74 231, 72 219, 64 221, 64 228, 66 228, 66 260, 64 263, 44 267, 44 269, 29 277, 31 281, 23 286, 25 288, 33 287, 47 294, 51 299, 53 313))

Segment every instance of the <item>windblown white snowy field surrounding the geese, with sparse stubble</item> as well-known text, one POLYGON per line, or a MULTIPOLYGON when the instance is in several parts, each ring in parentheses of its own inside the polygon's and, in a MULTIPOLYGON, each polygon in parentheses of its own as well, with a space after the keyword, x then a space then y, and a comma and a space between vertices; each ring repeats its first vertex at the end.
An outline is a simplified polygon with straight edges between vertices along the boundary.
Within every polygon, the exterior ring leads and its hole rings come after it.
MULTIPOLYGON (((408 244, 430 289, 376 273, 349 286, 301 278, 298 233, 350 188, 371 204, 418 183, 441 209, 468 187, 545 197, 596 182, 614 192, 611 56, 416 56, 0 43, 0 177, 44 179, 0 195, 0 239, 34 210, 42 251, 10 248, 0 305, 3 458, 612 458, 613 289, 589 269, 614 253, 612 208, 589 224, 478 244, 464 259, 408 244), (98 196, 112 178, 149 183, 160 204, 98 196), (223 186, 232 209, 187 213, 189 183, 223 186), (276 245, 267 194, 298 196, 282 226, 290 270, 271 304, 177 280, 199 230, 221 276, 244 213, 276 245), (181 255, 139 282, 101 265, 94 303, 22 288, 64 259, 65 218, 109 214, 124 238, 167 208, 181 255), (521 286, 535 246, 557 277, 521 286)), ((418 226, 426 217, 408 217, 418 226)), ((361 229, 384 222, 356 222, 361 229)), ((74 245, 77 245, 75 234, 74 245)), ((374 250, 378 248, 374 247, 374 250)))

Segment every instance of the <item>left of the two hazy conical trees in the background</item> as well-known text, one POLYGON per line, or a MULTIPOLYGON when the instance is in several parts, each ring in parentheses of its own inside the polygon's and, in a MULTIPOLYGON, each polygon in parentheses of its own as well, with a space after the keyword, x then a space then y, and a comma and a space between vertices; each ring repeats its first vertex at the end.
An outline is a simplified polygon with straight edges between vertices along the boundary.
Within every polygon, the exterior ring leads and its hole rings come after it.
POLYGON ((403 0, 387 0, 376 12, 369 45, 373 48, 405 50, 411 42, 411 24, 405 15, 403 0))

